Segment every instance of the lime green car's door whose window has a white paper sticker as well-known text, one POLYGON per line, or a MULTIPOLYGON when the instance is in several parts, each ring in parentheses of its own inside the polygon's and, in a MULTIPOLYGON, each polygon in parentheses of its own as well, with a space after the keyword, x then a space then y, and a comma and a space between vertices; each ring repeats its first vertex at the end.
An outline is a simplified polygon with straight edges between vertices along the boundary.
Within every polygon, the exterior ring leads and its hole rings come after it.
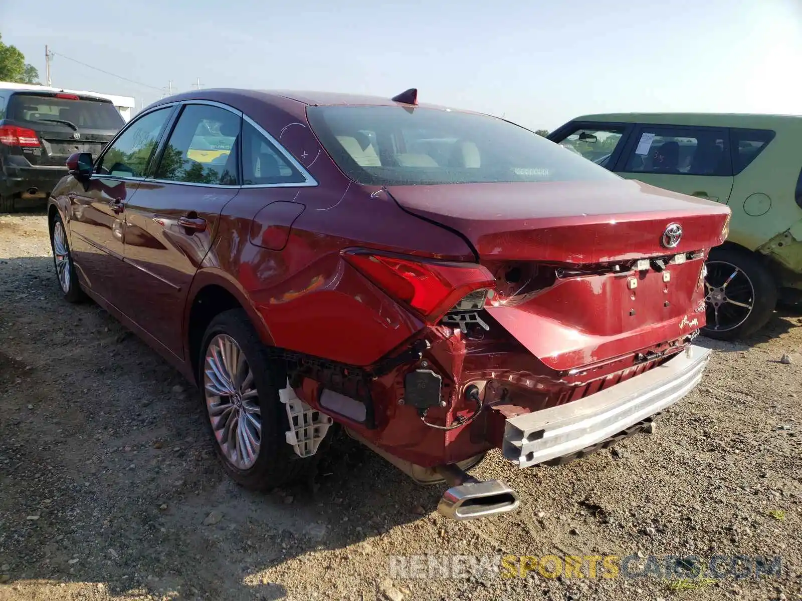
POLYGON ((723 127, 641 124, 614 171, 627 179, 727 204, 732 191, 729 134, 723 127))

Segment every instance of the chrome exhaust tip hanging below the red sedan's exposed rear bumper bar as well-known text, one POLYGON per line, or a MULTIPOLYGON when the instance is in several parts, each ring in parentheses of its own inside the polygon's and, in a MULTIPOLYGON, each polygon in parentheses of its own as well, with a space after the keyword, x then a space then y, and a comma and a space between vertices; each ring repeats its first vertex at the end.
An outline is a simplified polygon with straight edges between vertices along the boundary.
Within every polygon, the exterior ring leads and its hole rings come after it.
POLYGON ((518 508, 518 495, 504 482, 477 480, 454 465, 439 466, 435 470, 453 485, 437 504, 437 510, 446 518, 486 518, 518 508))

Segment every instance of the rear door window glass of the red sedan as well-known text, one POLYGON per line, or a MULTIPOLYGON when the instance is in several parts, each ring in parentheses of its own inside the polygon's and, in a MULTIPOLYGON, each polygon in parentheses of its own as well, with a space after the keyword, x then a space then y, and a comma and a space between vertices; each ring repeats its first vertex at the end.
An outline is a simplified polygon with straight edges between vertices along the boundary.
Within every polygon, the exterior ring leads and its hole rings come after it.
POLYGON ((189 104, 172 130, 156 179, 188 184, 237 185, 239 115, 221 107, 189 104))

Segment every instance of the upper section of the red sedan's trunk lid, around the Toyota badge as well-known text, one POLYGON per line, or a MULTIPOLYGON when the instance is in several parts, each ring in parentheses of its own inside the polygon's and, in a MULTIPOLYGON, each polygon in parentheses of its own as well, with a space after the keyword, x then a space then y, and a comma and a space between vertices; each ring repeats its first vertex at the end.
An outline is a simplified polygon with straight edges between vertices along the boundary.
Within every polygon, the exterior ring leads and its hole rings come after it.
POLYGON ((408 212, 460 232, 481 260, 601 263, 720 244, 729 209, 633 180, 387 188, 408 212), (670 251, 666 226, 683 237, 670 251))

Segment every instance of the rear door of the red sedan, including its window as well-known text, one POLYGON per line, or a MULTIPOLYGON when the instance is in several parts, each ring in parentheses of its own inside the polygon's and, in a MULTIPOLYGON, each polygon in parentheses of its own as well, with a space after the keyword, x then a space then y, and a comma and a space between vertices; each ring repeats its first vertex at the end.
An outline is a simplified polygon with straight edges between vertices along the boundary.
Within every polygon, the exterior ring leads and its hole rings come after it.
POLYGON ((180 108, 152 176, 125 207, 125 262, 133 319, 183 357, 189 285, 217 233, 222 208, 240 191, 241 112, 192 101, 180 108))

